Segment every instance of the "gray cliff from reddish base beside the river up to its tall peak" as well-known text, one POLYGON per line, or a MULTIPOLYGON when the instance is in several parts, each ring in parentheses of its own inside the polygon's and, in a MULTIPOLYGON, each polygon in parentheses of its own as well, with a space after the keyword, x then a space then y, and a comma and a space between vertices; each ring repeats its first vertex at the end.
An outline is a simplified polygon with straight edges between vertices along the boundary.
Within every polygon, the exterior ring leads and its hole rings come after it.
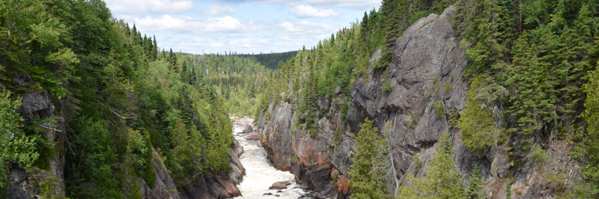
MULTIPOLYGON (((454 8, 448 8, 441 15, 431 14, 414 23, 397 39, 389 67, 383 71, 370 68, 356 78, 350 88, 353 101, 346 121, 339 118, 340 108, 335 102, 318 100, 320 110, 330 108, 330 117, 318 120, 315 137, 307 135, 302 126, 291 129, 298 113, 293 113, 290 104, 271 104, 267 110, 271 119, 259 118, 258 128, 264 137, 262 145, 275 165, 279 169, 291 167, 301 185, 331 198, 345 198, 349 194, 346 179, 350 178, 349 165, 353 163, 353 136, 359 132, 359 124, 370 118, 379 127, 392 126, 392 135, 397 138, 393 141, 397 178, 401 180, 412 172, 412 156, 436 149, 439 136, 448 130, 446 117, 450 110, 456 108, 459 112, 466 104, 467 85, 461 73, 467 58, 448 22, 454 12, 454 8), (381 80, 382 73, 387 74, 386 80, 381 80), (381 89, 386 81, 390 93, 381 89), (439 100, 446 107, 445 117, 437 116, 432 108, 439 100), (290 161, 293 156, 295 162, 290 161), (337 183, 330 185, 330 180, 336 178, 337 183)), ((376 51, 370 63, 380 57, 381 51, 376 51)), ((423 161, 430 160, 432 154, 434 150, 423 154, 423 161)))

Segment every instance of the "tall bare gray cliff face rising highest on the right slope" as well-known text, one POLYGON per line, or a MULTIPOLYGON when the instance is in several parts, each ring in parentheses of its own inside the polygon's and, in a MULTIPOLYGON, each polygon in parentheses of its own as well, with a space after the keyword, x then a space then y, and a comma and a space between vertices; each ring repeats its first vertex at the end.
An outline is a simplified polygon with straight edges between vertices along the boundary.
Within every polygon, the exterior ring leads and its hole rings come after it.
MULTIPOLYGON (((467 103, 468 88, 461 78, 467 58, 448 22, 454 12, 455 8, 450 7, 441 15, 430 14, 408 27, 396 40, 389 67, 357 78, 351 88, 354 101, 348 111, 348 123, 352 131, 358 132, 358 124, 366 118, 374 119, 379 129, 390 124, 396 138, 393 158, 397 178, 414 172, 413 155, 419 154, 423 161, 432 158, 432 152, 423 151, 436 148, 441 134, 448 131, 450 110, 455 108, 460 113, 467 103), (388 80, 378 78, 381 73, 386 73, 388 80), (363 78, 368 81, 362 81, 363 78), (390 93, 381 89, 385 81, 390 82, 390 93), (445 106, 443 117, 437 115, 439 110, 433 108, 434 103, 445 106)), ((373 55, 371 60, 375 59, 373 55)), ((468 156, 467 149, 459 152, 463 153, 456 154, 457 159, 469 161, 467 164, 476 162, 462 157, 468 156)), ((484 162, 479 166, 488 168, 489 161, 484 162)))

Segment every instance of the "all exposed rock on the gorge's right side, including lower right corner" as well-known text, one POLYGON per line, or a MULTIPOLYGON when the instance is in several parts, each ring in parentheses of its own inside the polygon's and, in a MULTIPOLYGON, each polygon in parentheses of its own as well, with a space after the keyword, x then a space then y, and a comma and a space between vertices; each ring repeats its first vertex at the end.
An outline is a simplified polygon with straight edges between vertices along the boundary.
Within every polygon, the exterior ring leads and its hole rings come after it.
MULTIPOLYGON (((425 174, 443 132, 450 134, 453 160, 459 172, 470 176, 474 165, 478 165, 484 190, 492 198, 505 198, 508 189, 518 190, 513 198, 555 196, 551 195, 549 180, 544 177, 550 172, 580 179, 576 161, 560 150, 565 143, 549 146, 547 151, 552 159, 558 160, 549 168, 543 169, 530 161, 514 167, 505 148, 515 141, 472 152, 462 143, 461 131, 450 128, 452 110, 461 113, 469 89, 462 77, 468 58, 450 23, 455 12, 452 6, 443 14, 419 19, 397 38, 388 67, 370 67, 366 74, 357 77, 350 88, 353 100, 346 119, 341 119, 342 102, 338 100, 343 95, 318 100, 318 110, 328 111, 328 117, 317 119, 314 136, 304 126, 295 124, 296 118, 302 119, 304 113, 298 113, 288 102, 269 104, 266 111, 270 117, 264 117, 266 114, 259 117, 256 129, 275 167, 290 170, 298 184, 320 191, 321 196, 346 198, 351 192, 348 171, 355 154, 353 137, 360 130, 359 124, 368 118, 379 129, 390 126, 394 138, 392 161, 398 182, 405 180, 408 173, 417 178, 425 174), (391 91, 382 89, 385 82, 391 91), (414 156, 419 156, 421 165, 414 164, 414 156), (513 183, 509 184, 508 179, 513 183)), ((380 57, 381 51, 372 54, 371 64, 380 57)))

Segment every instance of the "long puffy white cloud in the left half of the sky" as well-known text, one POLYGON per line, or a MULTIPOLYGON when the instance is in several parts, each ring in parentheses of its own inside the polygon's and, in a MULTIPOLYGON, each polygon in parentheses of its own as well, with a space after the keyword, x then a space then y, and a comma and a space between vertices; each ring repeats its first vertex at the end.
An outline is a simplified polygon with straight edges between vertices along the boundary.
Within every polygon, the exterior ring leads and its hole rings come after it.
POLYGON ((141 19, 134 18, 134 21, 138 29, 142 31, 253 32, 262 29, 260 25, 255 25, 252 21, 242 24, 231 16, 211 17, 206 21, 202 21, 187 16, 164 14, 160 18, 145 16, 141 19))

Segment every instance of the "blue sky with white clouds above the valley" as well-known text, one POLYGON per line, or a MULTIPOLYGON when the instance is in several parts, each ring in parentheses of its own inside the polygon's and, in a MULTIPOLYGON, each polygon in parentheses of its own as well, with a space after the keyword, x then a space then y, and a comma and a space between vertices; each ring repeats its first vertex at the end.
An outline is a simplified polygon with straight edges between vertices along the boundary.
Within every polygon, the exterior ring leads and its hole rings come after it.
POLYGON ((116 19, 158 47, 191 54, 260 54, 310 48, 381 0, 105 0, 116 19))

